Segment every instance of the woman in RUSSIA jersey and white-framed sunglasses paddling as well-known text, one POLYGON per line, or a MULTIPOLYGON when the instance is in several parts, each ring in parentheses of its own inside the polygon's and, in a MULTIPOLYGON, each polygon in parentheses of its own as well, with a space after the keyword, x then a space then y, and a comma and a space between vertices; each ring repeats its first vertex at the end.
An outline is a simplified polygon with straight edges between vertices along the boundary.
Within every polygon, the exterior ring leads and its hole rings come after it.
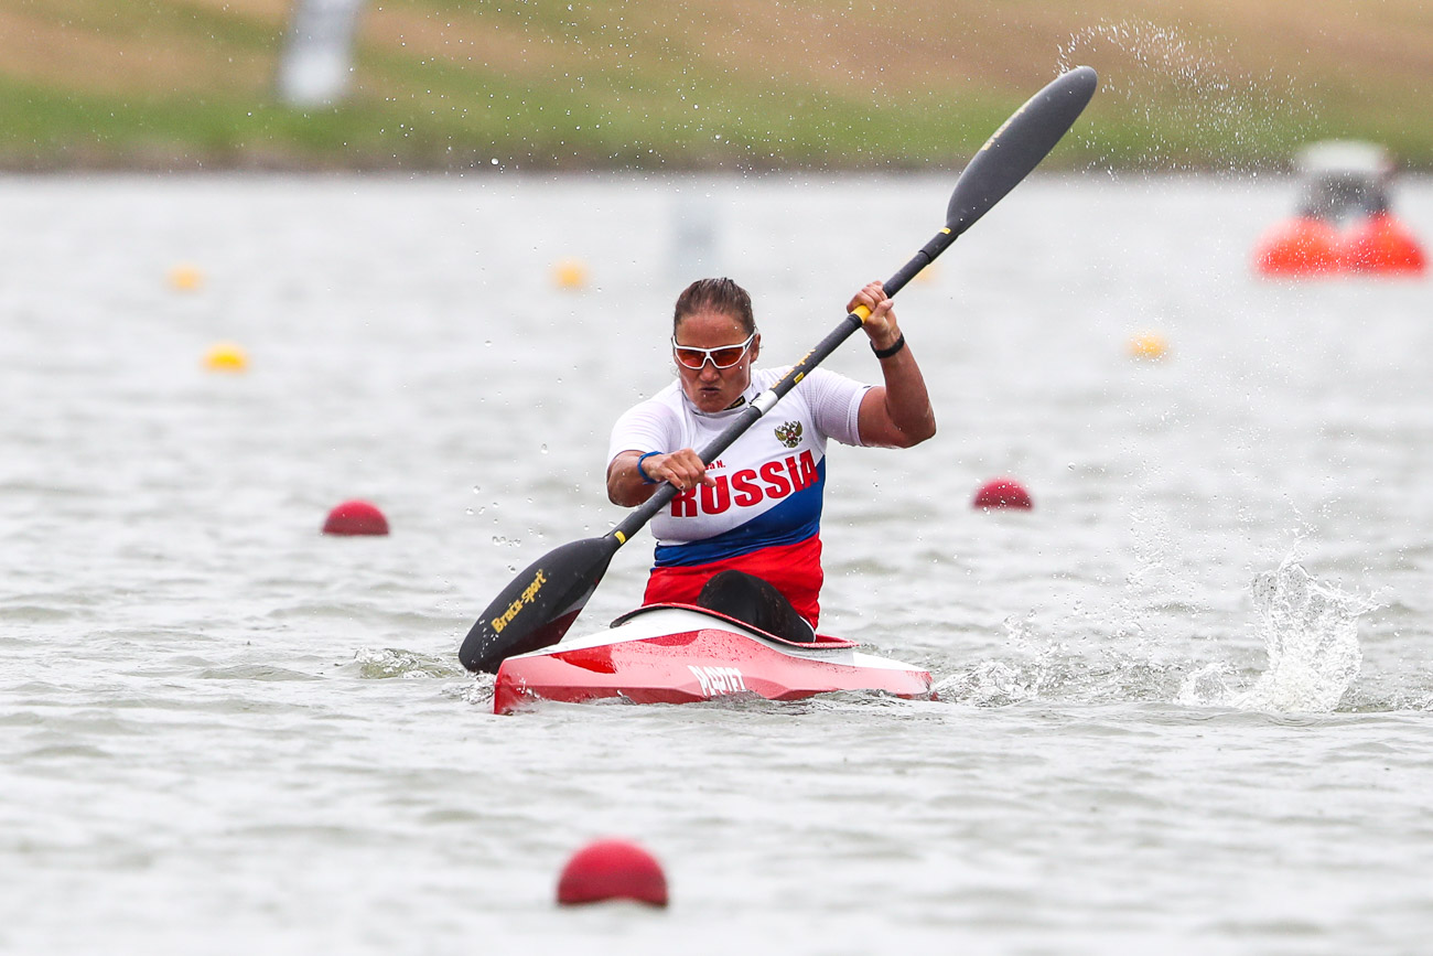
POLYGON ((936 433, 926 381, 891 300, 870 282, 847 304, 884 384, 814 368, 716 462, 704 447, 787 368, 752 368, 761 333, 751 297, 728 278, 698 279, 676 300, 676 381, 618 420, 608 497, 633 507, 662 482, 678 493, 652 519, 656 559, 643 603, 696 603, 791 641, 811 641, 820 616, 825 443, 910 447, 936 433))

